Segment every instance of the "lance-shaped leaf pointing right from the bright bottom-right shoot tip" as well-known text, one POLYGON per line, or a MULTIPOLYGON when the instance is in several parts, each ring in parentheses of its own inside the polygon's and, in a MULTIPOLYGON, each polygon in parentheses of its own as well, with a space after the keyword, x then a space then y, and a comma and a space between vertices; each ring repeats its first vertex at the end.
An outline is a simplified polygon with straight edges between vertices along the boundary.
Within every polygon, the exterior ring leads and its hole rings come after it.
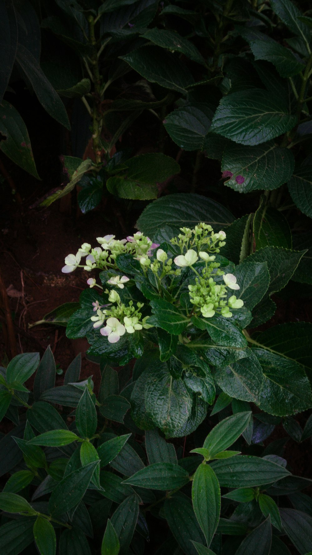
POLYGON ((238 455, 231 459, 213 461, 210 465, 221 487, 254 487, 276 482, 289 471, 264 458, 238 455))

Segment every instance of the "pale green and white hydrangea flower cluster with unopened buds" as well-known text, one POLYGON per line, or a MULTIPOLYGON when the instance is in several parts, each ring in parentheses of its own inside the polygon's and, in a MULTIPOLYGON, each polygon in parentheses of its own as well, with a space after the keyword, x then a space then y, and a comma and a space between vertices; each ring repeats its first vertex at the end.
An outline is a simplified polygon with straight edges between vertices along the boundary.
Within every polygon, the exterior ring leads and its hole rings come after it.
MULTIPOLYGON (((117 256, 131 254, 139 261, 145 276, 148 272, 157 276, 158 290, 162 296, 162 280, 166 280, 166 286, 170 289, 172 280, 170 281, 170 278, 167 280, 168 276, 179 276, 183 268, 189 268, 195 274, 195 284, 188 285, 190 302, 193 304, 192 314, 211 318, 217 312, 224 317, 231 317, 233 315, 231 310, 239 309, 244 303, 235 295, 228 298, 228 290, 238 290, 239 285, 233 274, 224 275, 224 272, 219 269, 220 264, 215 262, 215 255, 225 245, 226 234, 224 231, 214 233, 212 226, 205 223, 195 225, 194 229, 183 227, 180 231, 182 233, 171 239, 172 245, 178 246, 181 252, 174 259, 170 258, 163 249, 158 249, 157 243, 153 243, 138 231, 133 236, 121 240, 115 239, 114 235, 98 237, 100 246, 95 248, 92 248, 89 243, 83 243, 76 255, 66 256, 62 271, 67 274, 76 268, 83 268, 88 272, 95 268, 117 270, 117 256), (155 256, 153 256, 154 251, 155 256), (84 264, 80 264, 84 257, 84 264), (198 262, 204 262, 204 268, 198 264, 194 266, 198 262), (220 281, 221 278, 223 282, 220 281)), ((100 334, 107 337, 110 343, 119 341, 126 332, 133 334, 143 328, 152 327, 148 324, 149 316, 142 317, 143 303, 137 302, 134 306, 133 301, 129 301, 129 304, 125 305, 120 299, 118 290, 124 289, 129 279, 125 275, 113 275, 107 280, 111 289, 104 290, 108 295, 108 304, 99 305, 98 301, 92 303, 93 312, 95 312, 91 317, 93 327, 99 328, 100 334), (115 289, 112 289, 113 287, 115 289)), ((94 278, 89 278, 87 284, 90 288, 97 286, 103 290, 94 278)))

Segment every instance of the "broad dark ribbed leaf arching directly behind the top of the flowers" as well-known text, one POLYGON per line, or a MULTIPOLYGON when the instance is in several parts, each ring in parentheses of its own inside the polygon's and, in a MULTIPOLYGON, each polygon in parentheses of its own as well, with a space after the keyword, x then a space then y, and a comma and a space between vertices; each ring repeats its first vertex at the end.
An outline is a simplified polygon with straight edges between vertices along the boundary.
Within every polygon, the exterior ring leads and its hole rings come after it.
POLYGON ((214 231, 220 231, 234 221, 234 216, 212 199, 179 193, 162 196, 144 208, 138 219, 138 228, 153 238, 165 225, 170 225, 175 232, 180 233, 181 227, 193 229, 200 221, 212 225, 214 231))

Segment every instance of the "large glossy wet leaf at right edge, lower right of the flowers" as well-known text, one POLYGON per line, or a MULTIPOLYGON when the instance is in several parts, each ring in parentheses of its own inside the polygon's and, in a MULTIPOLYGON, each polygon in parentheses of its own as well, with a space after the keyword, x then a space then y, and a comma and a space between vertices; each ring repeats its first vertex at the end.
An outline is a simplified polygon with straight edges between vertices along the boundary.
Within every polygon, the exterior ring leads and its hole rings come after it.
MULTIPOLYGON (((261 342, 261 336, 258 340, 261 342)), ((288 416, 312 406, 311 386, 303 366, 265 347, 255 348, 253 352, 264 375, 259 396, 261 410, 271 415, 288 416)))

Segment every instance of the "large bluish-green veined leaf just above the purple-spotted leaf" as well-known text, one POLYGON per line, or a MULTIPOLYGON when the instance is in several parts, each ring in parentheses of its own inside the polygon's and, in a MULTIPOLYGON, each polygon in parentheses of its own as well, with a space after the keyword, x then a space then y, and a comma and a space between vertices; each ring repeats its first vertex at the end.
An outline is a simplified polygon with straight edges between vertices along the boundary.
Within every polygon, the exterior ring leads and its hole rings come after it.
POLYGON ((263 89, 240 90, 220 100, 210 131, 253 146, 279 137, 296 123, 283 99, 263 89))

